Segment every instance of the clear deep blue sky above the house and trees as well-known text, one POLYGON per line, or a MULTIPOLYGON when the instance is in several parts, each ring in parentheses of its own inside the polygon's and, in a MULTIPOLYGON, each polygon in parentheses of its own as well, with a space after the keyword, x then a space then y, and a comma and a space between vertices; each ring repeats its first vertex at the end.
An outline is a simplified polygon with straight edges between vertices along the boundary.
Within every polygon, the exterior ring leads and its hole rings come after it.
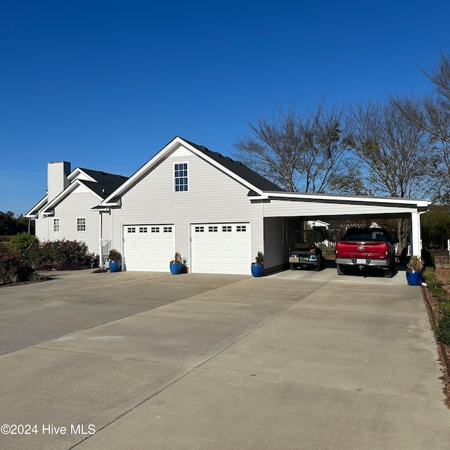
POLYGON ((49 161, 129 176, 174 136, 230 155, 255 117, 431 91, 448 0, 0 1, 0 211, 49 161))

